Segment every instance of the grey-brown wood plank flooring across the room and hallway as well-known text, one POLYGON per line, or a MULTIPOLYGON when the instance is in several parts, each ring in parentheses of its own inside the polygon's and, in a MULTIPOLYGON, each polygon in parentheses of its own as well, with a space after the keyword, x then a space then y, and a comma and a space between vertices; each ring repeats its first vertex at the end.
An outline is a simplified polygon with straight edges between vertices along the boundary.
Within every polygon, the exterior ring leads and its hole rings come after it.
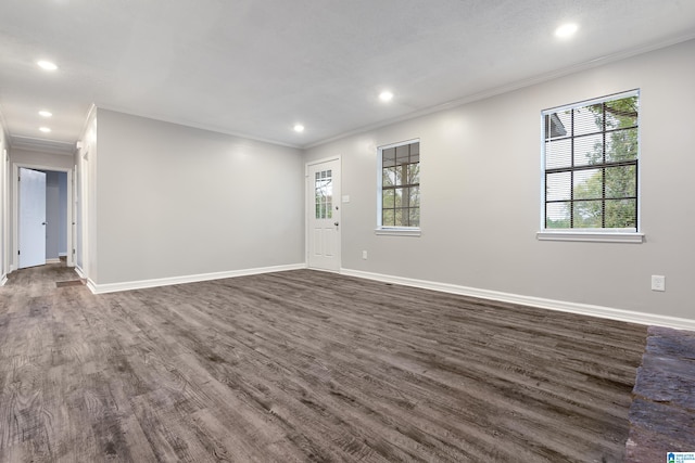
POLYGON ((646 327, 299 270, 0 288, 2 462, 619 462, 646 327))

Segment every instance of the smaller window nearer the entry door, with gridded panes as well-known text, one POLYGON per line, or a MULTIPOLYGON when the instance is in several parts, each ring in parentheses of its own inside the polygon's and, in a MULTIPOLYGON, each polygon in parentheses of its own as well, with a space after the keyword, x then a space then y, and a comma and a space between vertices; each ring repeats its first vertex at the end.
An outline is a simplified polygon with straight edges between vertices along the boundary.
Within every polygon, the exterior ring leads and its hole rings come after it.
POLYGON ((379 149, 379 218, 382 229, 420 227, 420 142, 379 149))

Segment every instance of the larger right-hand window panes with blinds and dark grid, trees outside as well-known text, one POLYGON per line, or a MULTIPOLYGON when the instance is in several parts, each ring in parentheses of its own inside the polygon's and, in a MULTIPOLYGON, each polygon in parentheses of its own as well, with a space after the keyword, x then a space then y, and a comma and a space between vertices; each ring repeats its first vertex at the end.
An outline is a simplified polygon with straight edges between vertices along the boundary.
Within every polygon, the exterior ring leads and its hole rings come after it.
POLYGON ((545 231, 639 231, 639 90, 546 110, 545 231))

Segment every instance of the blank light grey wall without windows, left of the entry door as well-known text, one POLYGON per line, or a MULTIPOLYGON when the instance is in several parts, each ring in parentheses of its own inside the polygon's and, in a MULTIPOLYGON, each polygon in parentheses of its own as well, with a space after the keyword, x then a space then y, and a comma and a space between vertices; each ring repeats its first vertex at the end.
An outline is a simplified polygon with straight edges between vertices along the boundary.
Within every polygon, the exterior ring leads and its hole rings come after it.
POLYGON ((304 261, 299 150, 97 113, 97 286, 304 261))

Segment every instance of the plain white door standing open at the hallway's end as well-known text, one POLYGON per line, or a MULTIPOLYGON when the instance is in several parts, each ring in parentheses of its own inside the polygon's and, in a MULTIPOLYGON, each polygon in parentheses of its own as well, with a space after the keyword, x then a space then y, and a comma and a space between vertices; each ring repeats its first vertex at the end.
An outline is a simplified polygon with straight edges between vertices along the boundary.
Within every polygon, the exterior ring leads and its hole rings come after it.
POLYGON ((20 168, 18 267, 46 263, 46 173, 20 168))

